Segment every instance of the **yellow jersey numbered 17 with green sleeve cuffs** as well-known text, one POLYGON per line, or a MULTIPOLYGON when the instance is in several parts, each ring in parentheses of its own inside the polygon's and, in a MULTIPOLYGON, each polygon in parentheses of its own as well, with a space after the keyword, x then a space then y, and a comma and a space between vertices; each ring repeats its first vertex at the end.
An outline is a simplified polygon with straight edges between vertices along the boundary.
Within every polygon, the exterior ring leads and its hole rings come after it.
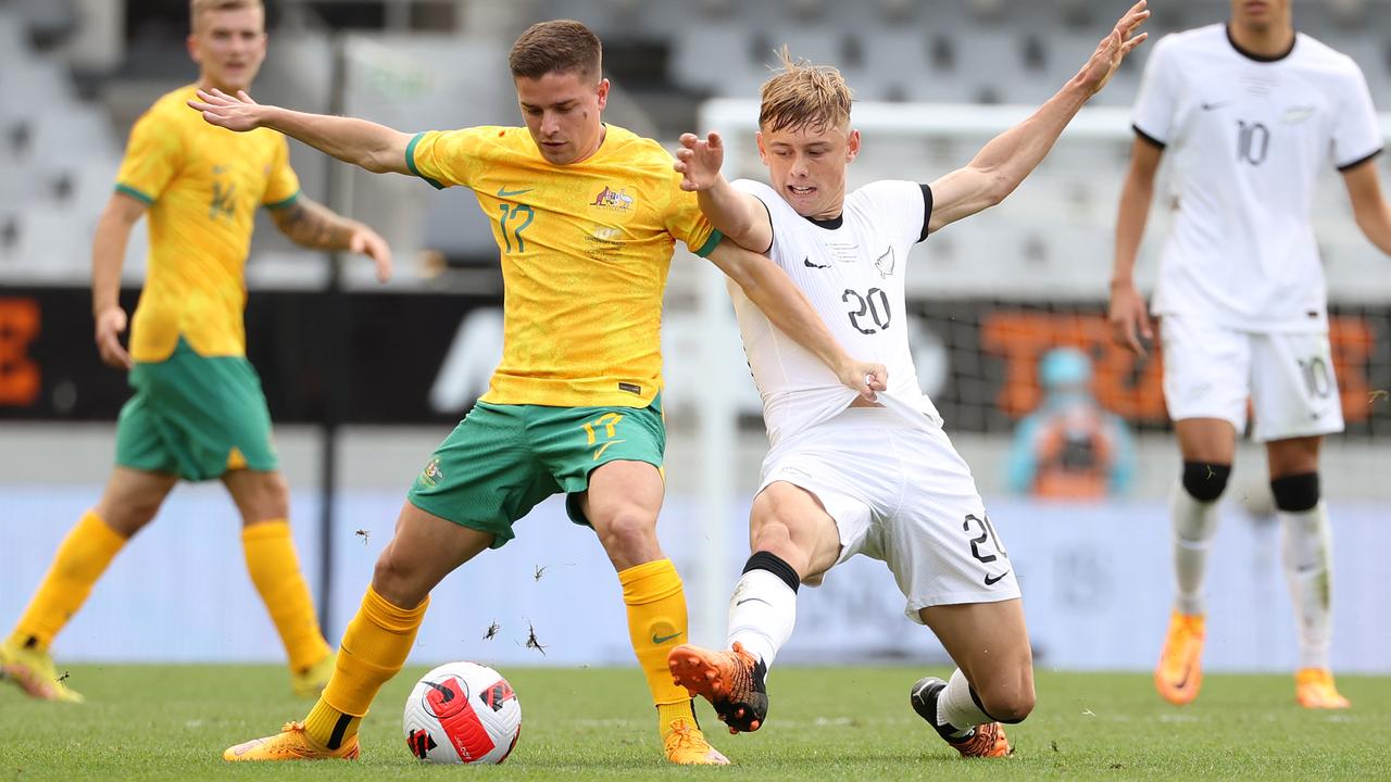
POLYGON ((470 188, 502 253, 501 405, 651 404, 662 387, 662 292, 675 241, 709 253, 719 234, 672 156, 608 125, 583 163, 555 166, 526 128, 419 134, 410 170, 470 188))

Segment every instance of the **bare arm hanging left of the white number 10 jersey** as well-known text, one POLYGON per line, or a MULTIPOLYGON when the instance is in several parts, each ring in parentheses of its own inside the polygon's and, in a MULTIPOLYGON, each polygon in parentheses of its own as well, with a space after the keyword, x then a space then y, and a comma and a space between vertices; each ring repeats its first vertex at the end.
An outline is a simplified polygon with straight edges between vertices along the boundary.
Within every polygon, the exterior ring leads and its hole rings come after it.
POLYGON ((1116 209, 1116 256, 1107 320, 1111 324, 1111 340, 1129 348, 1136 356, 1145 355, 1141 337, 1146 341, 1155 338, 1145 312, 1145 296, 1135 288, 1135 257, 1145 237, 1145 223, 1149 221, 1149 205, 1155 200, 1155 173, 1163 154, 1164 150, 1152 142, 1135 139, 1125 184, 1121 185, 1120 206, 1116 209))

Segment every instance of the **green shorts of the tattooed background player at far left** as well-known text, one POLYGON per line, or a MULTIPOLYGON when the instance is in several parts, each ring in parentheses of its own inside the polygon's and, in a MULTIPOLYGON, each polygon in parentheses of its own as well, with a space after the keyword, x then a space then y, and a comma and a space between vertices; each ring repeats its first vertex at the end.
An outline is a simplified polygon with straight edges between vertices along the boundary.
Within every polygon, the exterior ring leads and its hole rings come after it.
POLYGON ((231 469, 274 470, 270 410, 242 356, 200 356, 179 337, 174 353, 131 369, 135 395, 115 424, 115 463, 211 480, 231 469))

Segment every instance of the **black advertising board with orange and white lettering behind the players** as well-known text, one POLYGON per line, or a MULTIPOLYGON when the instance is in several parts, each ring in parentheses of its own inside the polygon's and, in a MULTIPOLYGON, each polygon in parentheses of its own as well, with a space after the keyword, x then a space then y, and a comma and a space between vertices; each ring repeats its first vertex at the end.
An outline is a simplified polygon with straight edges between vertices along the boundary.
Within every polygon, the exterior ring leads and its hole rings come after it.
MULTIPOLYGON (((451 381, 444 367, 456 342, 483 340, 481 348, 501 351, 499 298, 353 292, 344 301, 346 349, 327 351, 325 296, 252 292, 248 355, 277 423, 321 420, 330 377, 346 378, 341 422, 356 424, 453 423, 485 388, 490 360, 469 362, 465 376, 455 378, 467 388, 441 390, 441 384, 451 381), (470 316, 490 327, 470 328, 470 316), (330 366, 335 356, 346 366, 330 366)), ((135 292, 127 291, 122 302, 134 310, 135 292)), ((1103 406, 1142 430, 1168 426, 1161 352, 1156 348, 1152 358, 1135 359, 1114 345, 1100 305, 915 301, 910 316, 921 380, 949 431, 1007 433, 1039 402, 1038 359, 1059 345, 1092 356, 1103 406)), ((1391 388, 1391 306, 1334 306, 1330 321, 1348 436, 1391 431, 1387 405, 1376 404, 1377 390, 1391 388)), ((121 374, 88 349, 90 331, 85 289, 7 289, 0 296, 0 419, 114 420, 129 391, 121 374)), ((680 367, 670 365, 682 358, 668 355, 670 384, 680 376, 680 367)), ((690 394, 676 391, 677 398, 690 394)), ((740 413, 746 429, 759 427, 757 405, 743 404, 740 413)))

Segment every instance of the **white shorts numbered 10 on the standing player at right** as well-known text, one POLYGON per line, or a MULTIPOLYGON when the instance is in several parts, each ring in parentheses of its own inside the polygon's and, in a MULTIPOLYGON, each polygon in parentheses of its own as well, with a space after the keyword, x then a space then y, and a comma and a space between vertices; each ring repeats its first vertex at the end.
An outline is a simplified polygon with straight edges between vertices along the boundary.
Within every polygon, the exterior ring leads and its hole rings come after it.
POLYGON ((1342 398, 1328 334, 1238 331, 1167 314, 1168 417, 1223 419, 1241 433, 1251 401, 1257 442, 1342 431, 1342 398))

